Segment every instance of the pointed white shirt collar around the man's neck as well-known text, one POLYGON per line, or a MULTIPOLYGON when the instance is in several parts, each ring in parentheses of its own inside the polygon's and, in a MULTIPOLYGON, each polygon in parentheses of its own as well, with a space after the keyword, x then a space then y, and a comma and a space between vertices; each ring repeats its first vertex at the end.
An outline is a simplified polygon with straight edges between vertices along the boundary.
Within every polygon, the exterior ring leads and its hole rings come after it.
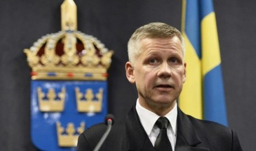
MULTIPOLYGON (((156 120, 160 117, 159 115, 155 114, 154 112, 149 111, 148 109, 145 109, 139 104, 139 99, 137 99, 136 103, 136 111, 139 115, 140 123, 144 127, 144 130, 146 131, 146 134, 149 136, 150 132, 153 129, 153 126, 156 123, 156 120)), ((168 112, 165 117, 170 121, 171 127, 173 132, 177 133, 177 103, 175 103, 175 106, 173 109, 168 112)))

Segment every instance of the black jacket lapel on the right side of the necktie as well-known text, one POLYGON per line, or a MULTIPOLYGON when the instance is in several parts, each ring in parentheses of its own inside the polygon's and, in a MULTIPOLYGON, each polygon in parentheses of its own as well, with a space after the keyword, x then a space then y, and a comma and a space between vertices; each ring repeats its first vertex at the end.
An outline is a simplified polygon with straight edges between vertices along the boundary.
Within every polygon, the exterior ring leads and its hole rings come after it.
POLYGON ((210 150, 208 148, 203 148, 201 146, 201 141, 194 130, 192 123, 190 122, 188 116, 184 114, 181 109, 178 108, 177 117, 177 140, 176 140, 176 151, 203 151, 210 150))

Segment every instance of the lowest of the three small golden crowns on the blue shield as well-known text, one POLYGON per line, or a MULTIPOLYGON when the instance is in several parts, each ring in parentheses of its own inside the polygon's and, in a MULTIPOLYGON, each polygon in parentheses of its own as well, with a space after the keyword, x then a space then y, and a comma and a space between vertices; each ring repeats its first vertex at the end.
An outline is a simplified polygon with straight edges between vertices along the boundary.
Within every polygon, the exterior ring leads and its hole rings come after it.
POLYGON ((68 123, 66 129, 61 126, 60 122, 56 123, 58 145, 60 147, 77 147, 79 134, 85 130, 85 123, 81 122, 75 130, 73 123, 68 123))

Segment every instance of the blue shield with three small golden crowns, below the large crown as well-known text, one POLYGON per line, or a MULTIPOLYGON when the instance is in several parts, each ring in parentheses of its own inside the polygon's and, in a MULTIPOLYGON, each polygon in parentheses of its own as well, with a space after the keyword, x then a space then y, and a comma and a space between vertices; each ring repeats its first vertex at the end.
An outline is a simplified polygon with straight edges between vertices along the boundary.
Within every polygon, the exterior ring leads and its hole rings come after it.
POLYGON ((31 81, 31 138, 41 150, 75 150, 79 133, 106 114, 106 81, 31 81))

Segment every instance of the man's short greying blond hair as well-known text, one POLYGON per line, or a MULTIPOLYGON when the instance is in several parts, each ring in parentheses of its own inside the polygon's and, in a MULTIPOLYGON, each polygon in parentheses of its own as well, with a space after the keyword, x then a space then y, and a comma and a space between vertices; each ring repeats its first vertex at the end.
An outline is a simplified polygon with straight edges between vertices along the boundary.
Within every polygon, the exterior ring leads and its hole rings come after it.
POLYGON ((130 37, 128 42, 128 57, 131 63, 141 53, 140 41, 144 38, 172 38, 177 36, 181 41, 182 55, 185 55, 184 38, 175 27, 164 24, 162 22, 152 22, 150 24, 139 27, 130 37))

